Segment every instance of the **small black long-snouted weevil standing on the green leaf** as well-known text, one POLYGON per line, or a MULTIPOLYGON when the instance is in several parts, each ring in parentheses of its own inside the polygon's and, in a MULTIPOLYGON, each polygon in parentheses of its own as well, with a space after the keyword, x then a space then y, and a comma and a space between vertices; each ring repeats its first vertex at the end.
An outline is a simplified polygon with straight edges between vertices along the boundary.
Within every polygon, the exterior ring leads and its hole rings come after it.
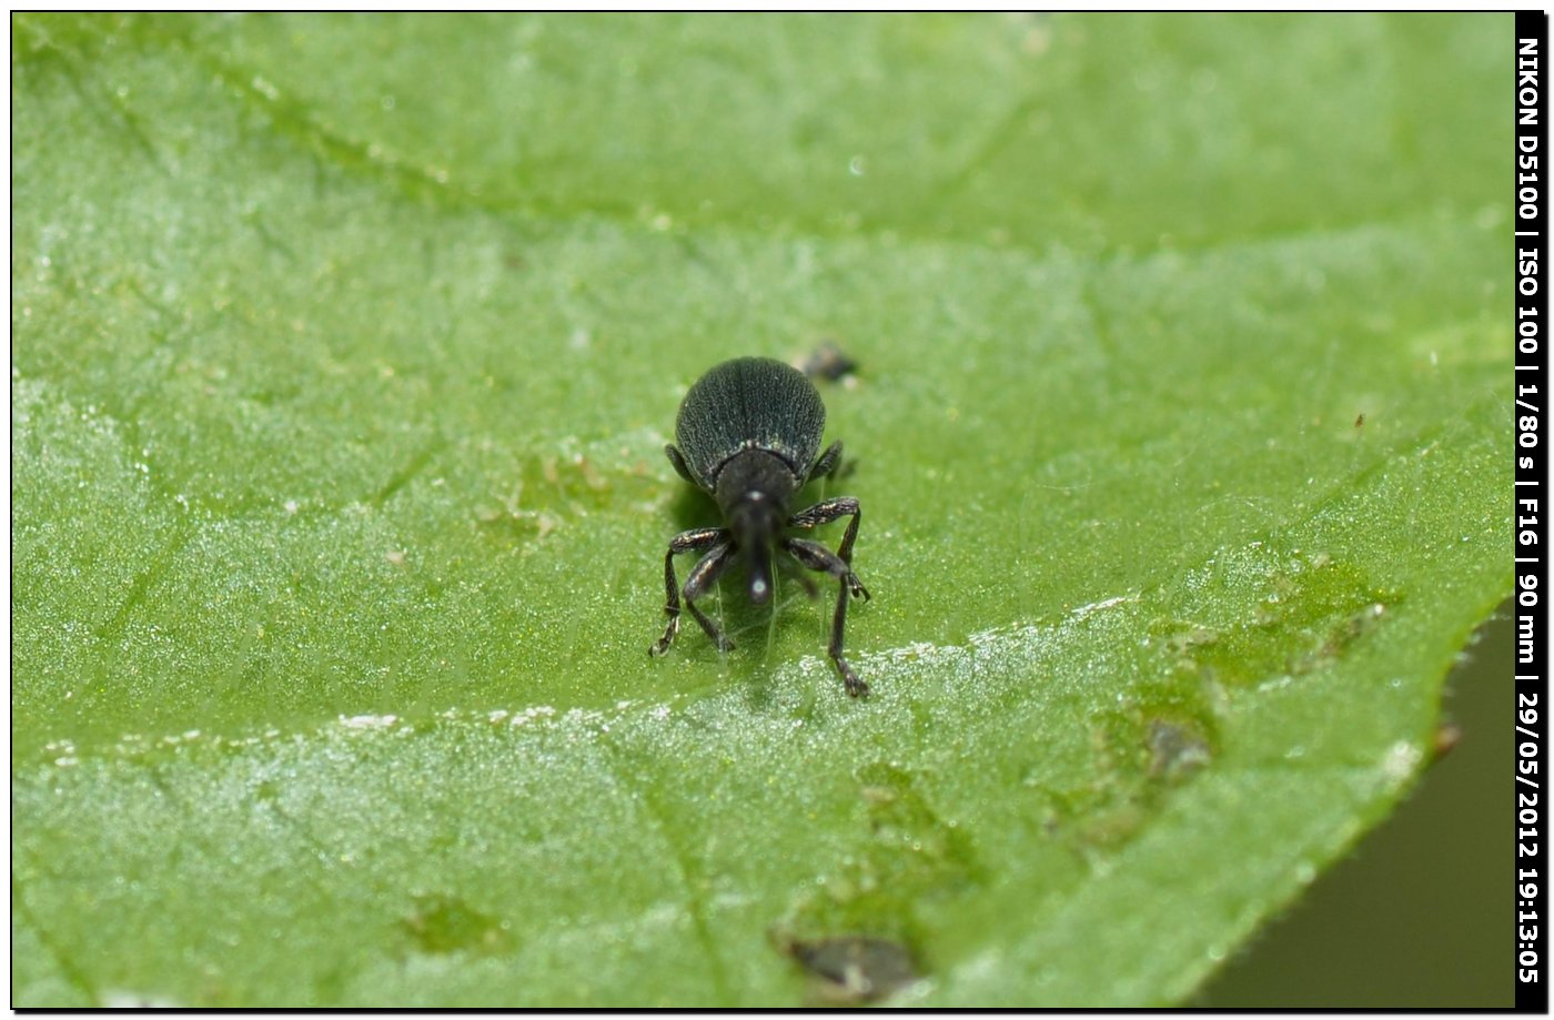
MULTIPOLYGON (((751 575, 751 600, 757 605, 766 602, 771 599, 772 552, 777 552, 839 582, 827 651, 847 684, 847 693, 855 698, 869 693, 869 684, 842 658, 847 596, 869 599, 852 568, 853 540, 862 519, 858 501, 838 496, 788 515, 788 502, 800 488, 822 476, 836 477, 842 463, 841 442, 831 443, 816 459, 824 432, 825 404, 814 384, 793 365, 772 358, 726 361, 690 387, 674 420, 679 448, 668 445, 664 452, 681 477, 718 501, 724 527, 693 527, 670 540, 664 557, 664 613, 670 622, 648 655, 668 651, 679 633, 681 599, 720 651, 732 648, 723 630, 696 608, 696 599, 729 569, 733 554, 743 550, 751 575), (852 521, 836 552, 783 533, 845 516, 852 521), (674 557, 681 552, 702 554, 687 575, 685 588, 674 580, 674 557)), ((800 582, 811 596, 816 592, 808 577, 800 575, 800 582)))

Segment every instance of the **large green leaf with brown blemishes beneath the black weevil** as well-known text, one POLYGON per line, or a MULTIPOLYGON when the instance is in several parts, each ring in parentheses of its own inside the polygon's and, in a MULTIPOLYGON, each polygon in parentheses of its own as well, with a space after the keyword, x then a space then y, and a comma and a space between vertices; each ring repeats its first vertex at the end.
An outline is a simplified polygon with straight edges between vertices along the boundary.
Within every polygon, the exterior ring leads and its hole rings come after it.
POLYGON ((1509 591, 1507 16, 12 30, 14 1004, 1181 1001, 1509 591), (873 697, 650 661, 824 341, 873 697))

